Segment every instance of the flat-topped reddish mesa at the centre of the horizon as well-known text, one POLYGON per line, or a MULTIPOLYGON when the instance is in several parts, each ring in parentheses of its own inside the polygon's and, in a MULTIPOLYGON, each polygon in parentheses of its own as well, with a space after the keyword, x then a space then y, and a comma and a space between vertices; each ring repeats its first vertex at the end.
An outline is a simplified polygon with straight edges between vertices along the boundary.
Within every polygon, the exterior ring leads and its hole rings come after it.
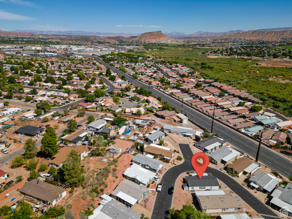
POLYGON ((146 32, 140 36, 130 36, 125 39, 125 41, 145 41, 145 42, 164 42, 171 41, 172 39, 165 36, 161 30, 155 32, 146 32))

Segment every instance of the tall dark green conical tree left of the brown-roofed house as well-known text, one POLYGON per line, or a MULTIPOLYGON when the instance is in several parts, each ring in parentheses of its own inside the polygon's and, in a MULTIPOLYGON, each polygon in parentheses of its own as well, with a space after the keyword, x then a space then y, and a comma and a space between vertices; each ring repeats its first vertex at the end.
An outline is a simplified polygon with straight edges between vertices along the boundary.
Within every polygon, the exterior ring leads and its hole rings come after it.
POLYGON ((41 151, 49 157, 53 157, 58 152, 57 135, 51 126, 46 128, 46 133, 41 140, 41 151))

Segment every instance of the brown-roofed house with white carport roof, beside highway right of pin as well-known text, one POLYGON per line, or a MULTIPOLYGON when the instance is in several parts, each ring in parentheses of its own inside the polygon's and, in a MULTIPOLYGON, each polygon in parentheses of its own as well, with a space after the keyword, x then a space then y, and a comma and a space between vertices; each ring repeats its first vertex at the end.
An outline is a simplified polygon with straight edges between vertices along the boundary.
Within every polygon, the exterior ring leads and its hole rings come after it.
POLYGON ((247 157, 241 157, 234 161, 232 164, 228 164, 227 170, 231 170, 232 173, 240 176, 242 173, 253 174, 256 170, 260 168, 260 165, 253 163, 251 159, 247 157))

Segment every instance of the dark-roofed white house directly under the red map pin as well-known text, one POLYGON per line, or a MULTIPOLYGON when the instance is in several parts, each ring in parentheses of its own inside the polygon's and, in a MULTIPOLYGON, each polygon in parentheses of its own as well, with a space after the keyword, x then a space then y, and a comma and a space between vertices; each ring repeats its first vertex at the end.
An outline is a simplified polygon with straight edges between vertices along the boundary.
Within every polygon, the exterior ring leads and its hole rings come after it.
POLYGON ((187 183, 183 184, 183 190, 218 190, 219 183, 215 176, 204 173, 199 178, 198 175, 186 176, 187 183))

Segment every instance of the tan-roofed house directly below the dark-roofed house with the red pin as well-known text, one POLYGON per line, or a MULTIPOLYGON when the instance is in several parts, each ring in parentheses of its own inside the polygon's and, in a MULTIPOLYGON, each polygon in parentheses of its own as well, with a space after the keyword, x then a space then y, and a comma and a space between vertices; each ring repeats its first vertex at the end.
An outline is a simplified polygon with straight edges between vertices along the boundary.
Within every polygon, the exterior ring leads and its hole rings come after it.
POLYGON ((198 195, 197 201, 201 211, 206 213, 237 212, 245 210, 242 199, 233 193, 225 195, 198 195))

